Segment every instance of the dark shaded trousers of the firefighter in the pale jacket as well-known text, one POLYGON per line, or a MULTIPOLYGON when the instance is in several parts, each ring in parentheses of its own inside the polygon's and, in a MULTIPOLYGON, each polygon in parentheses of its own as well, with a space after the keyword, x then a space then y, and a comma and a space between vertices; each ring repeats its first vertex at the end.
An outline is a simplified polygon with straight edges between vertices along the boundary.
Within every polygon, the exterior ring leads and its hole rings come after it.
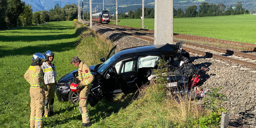
POLYGON ((55 97, 55 83, 49 83, 45 89, 45 115, 49 115, 49 111, 53 111, 53 103, 55 97))

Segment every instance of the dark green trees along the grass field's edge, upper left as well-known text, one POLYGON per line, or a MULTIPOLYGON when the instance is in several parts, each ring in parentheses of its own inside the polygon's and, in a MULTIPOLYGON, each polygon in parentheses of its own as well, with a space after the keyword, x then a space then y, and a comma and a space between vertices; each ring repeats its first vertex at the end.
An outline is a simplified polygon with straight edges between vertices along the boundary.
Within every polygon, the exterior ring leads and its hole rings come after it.
POLYGON ((48 21, 72 21, 77 18, 77 5, 65 5, 49 11, 35 11, 21 0, 0 0, 0 29, 37 25, 48 21))

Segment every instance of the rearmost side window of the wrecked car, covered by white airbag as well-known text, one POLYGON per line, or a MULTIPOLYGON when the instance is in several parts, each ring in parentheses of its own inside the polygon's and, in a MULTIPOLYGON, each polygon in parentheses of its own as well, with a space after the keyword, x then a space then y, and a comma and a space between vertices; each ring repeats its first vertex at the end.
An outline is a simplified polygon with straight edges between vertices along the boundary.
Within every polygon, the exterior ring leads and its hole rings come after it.
POLYGON ((139 57, 138 62, 139 62, 139 67, 138 68, 143 68, 143 67, 155 67, 157 65, 157 61, 159 61, 159 56, 147 56, 147 57, 139 57))

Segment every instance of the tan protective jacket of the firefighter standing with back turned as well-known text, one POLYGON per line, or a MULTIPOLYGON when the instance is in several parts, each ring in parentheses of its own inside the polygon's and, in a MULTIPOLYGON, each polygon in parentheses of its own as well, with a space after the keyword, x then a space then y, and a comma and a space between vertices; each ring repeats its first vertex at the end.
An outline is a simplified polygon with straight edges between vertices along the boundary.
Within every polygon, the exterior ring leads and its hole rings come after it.
POLYGON ((43 71, 39 65, 30 66, 24 74, 24 78, 29 82, 31 88, 43 88, 45 84, 43 82, 43 71))

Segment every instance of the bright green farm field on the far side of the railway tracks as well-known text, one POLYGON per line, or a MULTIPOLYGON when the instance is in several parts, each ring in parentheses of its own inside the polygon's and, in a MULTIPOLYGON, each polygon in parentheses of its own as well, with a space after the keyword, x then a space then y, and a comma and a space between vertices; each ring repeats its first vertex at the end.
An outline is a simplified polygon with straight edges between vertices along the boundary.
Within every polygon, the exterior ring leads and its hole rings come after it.
MULTIPOLYGON (((118 25, 141 28, 141 19, 119 19, 118 25)), ((154 19, 144 19, 145 29, 154 29, 154 19)), ((174 18, 173 33, 256 43, 256 15, 174 18)))

